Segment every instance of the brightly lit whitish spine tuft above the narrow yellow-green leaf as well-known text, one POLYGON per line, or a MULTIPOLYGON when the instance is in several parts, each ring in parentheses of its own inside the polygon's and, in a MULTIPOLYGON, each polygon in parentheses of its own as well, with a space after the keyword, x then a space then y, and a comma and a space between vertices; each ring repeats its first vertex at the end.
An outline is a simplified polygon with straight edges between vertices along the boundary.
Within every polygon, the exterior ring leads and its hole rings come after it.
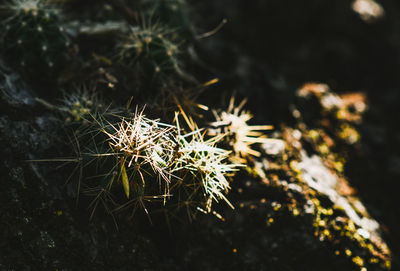
MULTIPOLYGON (((140 184, 146 186, 146 173, 151 168, 160 184, 168 187, 171 179, 169 165, 174 156, 172 126, 158 120, 145 118, 143 112, 136 112, 132 119, 122 119, 118 126, 110 124, 113 133, 103 132, 109 138, 111 151, 120 156, 121 180, 127 198, 130 196, 127 169, 138 175, 140 184)), ((168 188, 166 188, 168 190, 168 188)))

